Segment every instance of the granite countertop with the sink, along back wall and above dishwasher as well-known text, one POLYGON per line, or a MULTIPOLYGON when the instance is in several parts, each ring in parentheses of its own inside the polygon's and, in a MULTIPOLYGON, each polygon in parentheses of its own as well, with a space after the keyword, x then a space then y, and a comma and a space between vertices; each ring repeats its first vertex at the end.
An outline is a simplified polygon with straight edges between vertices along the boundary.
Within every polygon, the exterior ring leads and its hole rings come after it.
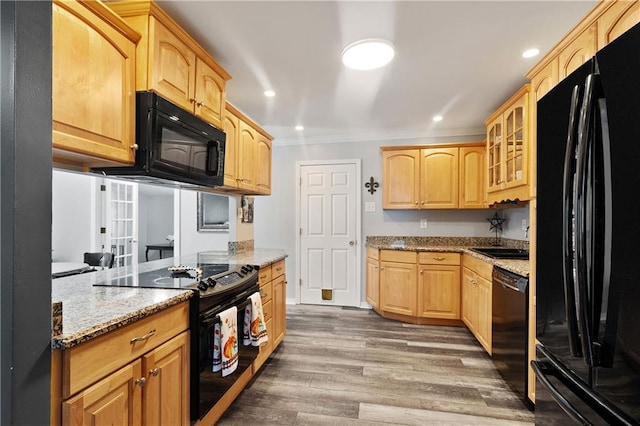
MULTIPOLYGON (((367 237, 366 246, 382 250, 457 252, 469 254, 487 263, 529 277, 529 261, 494 259, 475 251, 472 247, 495 247, 493 238, 473 237, 367 237)), ((528 241, 501 240, 503 247, 529 249, 528 241)))

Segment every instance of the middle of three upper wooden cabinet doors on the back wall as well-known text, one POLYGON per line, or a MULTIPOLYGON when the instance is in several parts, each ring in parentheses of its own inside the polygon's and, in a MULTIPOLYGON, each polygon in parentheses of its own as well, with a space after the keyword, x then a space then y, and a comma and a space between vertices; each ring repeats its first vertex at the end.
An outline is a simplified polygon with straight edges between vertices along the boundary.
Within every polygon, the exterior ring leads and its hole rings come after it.
POLYGON ((420 150, 420 208, 458 207, 458 148, 420 150))

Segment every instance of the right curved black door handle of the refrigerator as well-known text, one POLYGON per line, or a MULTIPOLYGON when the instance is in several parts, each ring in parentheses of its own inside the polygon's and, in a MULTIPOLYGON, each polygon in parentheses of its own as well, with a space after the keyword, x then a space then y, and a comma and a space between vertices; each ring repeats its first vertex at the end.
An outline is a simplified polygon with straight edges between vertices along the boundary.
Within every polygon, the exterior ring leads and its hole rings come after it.
POLYGON ((587 220, 592 218, 593 212, 588 211, 590 204, 587 197, 593 195, 589 191, 589 180, 592 178, 590 170, 591 155, 594 154, 593 133, 590 133, 590 124, 593 112, 594 79, 593 74, 587 76, 585 80, 585 90, 580 110, 580 122, 578 125, 578 159, 576 165, 577 188, 575 196, 576 205, 576 314, 578 318, 578 328, 582 343, 582 353, 585 363, 594 365, 592 330, 591 330, 591 306, 589 300, 589 289, 592 286, 589 274, 589 256, 592 254, 591 227, 587 226, 587 220))

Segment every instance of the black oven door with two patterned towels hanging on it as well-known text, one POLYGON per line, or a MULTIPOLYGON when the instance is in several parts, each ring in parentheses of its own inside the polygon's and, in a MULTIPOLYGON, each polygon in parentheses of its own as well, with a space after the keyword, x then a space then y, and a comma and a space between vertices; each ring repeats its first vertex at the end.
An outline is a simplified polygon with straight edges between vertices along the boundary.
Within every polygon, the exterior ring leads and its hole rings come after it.
POLYGON ((198 318, 198 358, 197 365, 192 367, 192 374, 198 374, 197 389, 192 393, 191 419, 201 419, 209 410, 222 398, 222 396, 233 386, 238 378, 251 368, 253 361, 258 356, 259 348, 256 346, 245 346, 242 344, 242 335, 238 336, 238 368, 228 376, 222 377, 222 372, 213 372, 213 336, 214 327, 218 322, 217 315, 231 306, 238 309, 238 333, 242 333, 244 324, 245 307, 249 300, 249 295, 258 291, 258 286, 242 292, 233 301, 224 305, 217 305, 207 311, 200 312, 198 318), (197 405, 196 405, 197 403, 197 405))

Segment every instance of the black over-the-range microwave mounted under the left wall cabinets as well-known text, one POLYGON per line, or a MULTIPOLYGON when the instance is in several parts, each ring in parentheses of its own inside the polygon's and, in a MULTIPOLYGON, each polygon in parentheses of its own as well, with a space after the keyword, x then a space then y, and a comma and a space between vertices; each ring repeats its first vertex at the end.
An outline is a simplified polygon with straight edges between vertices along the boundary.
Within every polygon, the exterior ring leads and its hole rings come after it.
POLYGON ((133 166, 94 173, 175 187, 224 183, 225 133, 154 92, 136 93, 136 159, 133 166))

